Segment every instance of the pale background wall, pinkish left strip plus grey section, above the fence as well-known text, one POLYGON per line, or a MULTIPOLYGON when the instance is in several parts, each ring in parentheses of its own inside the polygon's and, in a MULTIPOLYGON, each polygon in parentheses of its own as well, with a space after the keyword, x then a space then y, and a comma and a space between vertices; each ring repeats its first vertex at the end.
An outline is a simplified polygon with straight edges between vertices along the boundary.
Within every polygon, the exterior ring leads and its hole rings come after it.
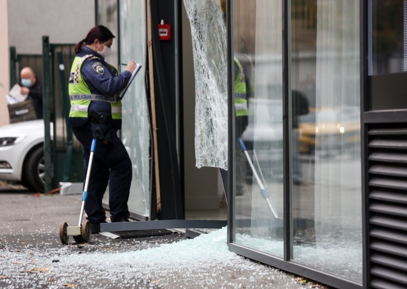
POLYGON ((42 54, 42 36, 77 43, 94 25, 94 0, 0 0, 0 126, 9 123, 10 46, 17 54, 42 54))

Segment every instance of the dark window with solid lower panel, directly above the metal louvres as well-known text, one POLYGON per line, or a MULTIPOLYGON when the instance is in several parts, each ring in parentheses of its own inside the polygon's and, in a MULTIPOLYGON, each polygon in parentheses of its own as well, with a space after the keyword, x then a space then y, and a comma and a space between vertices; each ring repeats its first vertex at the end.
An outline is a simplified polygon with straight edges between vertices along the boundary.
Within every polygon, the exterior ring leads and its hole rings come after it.
POLYGON ((367 5, 369 109, 407 108, 407 1, 367 5))

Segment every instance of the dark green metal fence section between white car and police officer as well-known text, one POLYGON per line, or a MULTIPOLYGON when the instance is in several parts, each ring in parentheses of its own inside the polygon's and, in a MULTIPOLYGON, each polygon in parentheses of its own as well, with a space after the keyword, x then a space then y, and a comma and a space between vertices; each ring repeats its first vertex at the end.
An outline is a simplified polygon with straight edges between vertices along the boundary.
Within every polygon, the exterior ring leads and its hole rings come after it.
POLYGON ((80 143, 68 126, 70 104, 67 83, 75 57, 75 44, 51 44, 43 37, 43 85, 45 123, 45 191, 59 187, 59 182, 83 181, 80 143), (53 124, 53 137, 49 124, 53 124))

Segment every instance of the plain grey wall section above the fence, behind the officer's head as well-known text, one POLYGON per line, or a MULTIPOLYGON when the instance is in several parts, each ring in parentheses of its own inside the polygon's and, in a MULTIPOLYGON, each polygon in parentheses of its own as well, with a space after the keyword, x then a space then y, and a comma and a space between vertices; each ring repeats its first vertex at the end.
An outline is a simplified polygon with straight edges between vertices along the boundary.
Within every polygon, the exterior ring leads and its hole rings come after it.
POLYGON ((17 53, 41 53, 51 43, 77 43, 95 25, 94 0, 8 0, 9 45, 17 53))

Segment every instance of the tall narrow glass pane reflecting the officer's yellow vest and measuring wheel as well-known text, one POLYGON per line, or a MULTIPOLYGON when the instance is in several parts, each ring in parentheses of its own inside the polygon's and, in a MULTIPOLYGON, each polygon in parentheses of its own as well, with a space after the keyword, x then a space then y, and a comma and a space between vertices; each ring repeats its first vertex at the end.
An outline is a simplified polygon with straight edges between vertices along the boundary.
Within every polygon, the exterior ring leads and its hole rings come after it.
POLYGON ((234 1, 234 243, 283 256, 282 2, 234 1))

